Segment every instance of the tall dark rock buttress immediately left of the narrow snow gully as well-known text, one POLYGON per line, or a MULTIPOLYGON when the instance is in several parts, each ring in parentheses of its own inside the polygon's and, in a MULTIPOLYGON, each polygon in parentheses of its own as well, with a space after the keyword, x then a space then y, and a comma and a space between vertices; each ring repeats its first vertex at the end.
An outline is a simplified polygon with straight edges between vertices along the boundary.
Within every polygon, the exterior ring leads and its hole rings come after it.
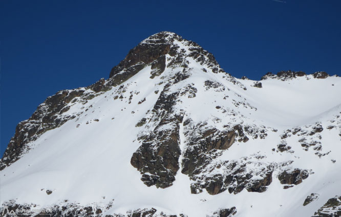
POLYGON ((161 119, 153 133, 143 140, 140 148, 133 154, 131 164, 142 175, 147 186, 165 188, 172 185, 179 170, 179 125, 183 116, 173 114, 177 93, 167 94, 167 87, 161 92, 154 106, 161 119))

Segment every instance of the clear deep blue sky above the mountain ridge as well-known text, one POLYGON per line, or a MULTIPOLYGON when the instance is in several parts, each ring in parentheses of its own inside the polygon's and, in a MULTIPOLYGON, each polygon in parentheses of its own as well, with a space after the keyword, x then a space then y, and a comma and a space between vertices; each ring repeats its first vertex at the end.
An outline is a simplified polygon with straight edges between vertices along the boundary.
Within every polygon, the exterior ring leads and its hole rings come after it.
POLYGON ((1 151, 49 95, 108 78, 144 38, 172 31, 235 77, 341 76, 341 1, 0 2, 1 151))

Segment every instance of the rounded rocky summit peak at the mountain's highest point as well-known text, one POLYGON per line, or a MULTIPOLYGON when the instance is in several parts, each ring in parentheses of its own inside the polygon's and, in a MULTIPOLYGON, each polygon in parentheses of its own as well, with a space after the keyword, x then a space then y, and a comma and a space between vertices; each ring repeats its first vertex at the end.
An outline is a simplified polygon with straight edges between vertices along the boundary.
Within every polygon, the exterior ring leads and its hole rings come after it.
MULTIPOLYGON (((109 78, 124 73, 124 77, 131 77, 147 65, 160 65, 164 70, 167 62, 174 66, 186 67, 186 59, 194 59, 206 65, 213 73, 223 72, 214 56, 193 41, 183 39, 172 32, 159 32, 151 35, 135 46, 126 57, 112 68, 109 78)), ((121 77, 121 76, 119 76, 121 77)), ((114 84, 117 82, 114 82, 114 84)))

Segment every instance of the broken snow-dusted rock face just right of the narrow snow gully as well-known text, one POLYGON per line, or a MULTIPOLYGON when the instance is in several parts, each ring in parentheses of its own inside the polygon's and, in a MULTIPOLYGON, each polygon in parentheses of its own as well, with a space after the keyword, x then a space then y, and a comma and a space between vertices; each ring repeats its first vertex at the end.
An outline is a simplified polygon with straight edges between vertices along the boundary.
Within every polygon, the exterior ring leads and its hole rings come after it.
POLYGON ((250 158, 234 161, 216 161, 223 151, 234 142, 247 142, 248 136, 257 139, 265 138, 266 131, 254 126, 225 126, 220 131, 209 128, 206 123, 194 123, 186 119, 183 123, 184 135, 187 138, 183 152, 182 170, 195 182, 191 184, 192 194, 199 194, 206 189, 211 195, 228 190, 238 194, 244 188, 248 191, 263 192, 272 181, 273 169, 270 165, 254 162, 250 158), (254 165, 254 170, 248 167, 254 165), (220 171, 216 173, 215 171, 220 171), (252 177, 258 176, 254 179, 252 177))

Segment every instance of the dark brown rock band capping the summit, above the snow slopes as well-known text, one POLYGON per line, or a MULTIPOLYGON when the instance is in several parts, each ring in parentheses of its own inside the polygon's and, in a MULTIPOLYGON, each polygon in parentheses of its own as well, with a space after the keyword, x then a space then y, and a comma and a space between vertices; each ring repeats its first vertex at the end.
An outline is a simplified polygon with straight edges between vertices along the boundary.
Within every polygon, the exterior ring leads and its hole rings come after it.
MULTIPOLYGON (((166 67, 166 54, 173 57, 167 67, 187 68, 188 61, 185 59, 187 55, 184 54, 184 51, 180 51, 178 45, 173 43, 174 40, 183 41, 179 35, 170 32, 160 32, 143 40, 127 54, 124 60, 112 68, 108 83, 117 86, 134 76, 146 65, 152 67, 151 78, 158 76, 166 67)), ((193 41, 186 41, 186 43, 191 46, 189 57, 193 57, 201 64, 206 64, 214 72, 223 71, 212 54, 203 50, 193 41)))

